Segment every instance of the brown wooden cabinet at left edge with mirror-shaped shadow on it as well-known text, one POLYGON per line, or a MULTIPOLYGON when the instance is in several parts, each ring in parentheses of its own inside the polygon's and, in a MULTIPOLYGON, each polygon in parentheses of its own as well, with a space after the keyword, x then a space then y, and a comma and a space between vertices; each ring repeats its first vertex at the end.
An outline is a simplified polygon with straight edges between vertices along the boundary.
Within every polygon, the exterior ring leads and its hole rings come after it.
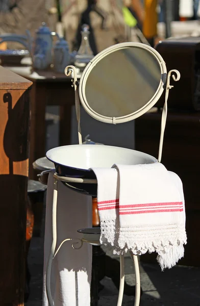
POLYGON ((0 66, 1 306, 23 305, 31 85, 0 66))

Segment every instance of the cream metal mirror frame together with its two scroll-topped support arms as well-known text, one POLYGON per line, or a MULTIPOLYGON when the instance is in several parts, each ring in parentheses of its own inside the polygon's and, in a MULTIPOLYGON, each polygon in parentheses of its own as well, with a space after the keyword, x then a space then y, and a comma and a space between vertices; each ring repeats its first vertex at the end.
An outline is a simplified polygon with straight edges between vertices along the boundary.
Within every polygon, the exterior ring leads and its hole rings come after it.
POLYGON ((105 50, 103 50, 101 53, 99 53, 98 55, 96 55, 91 61, 90 63, 86 66, 85 70, 83 71, 81 80, 80 80, 80 86, 79 86, 79 94, 78 94, 78 83, 77 83, 77 70, 76 67, 74 66, 67 66, 65 68, 65 74, 67 75, 67 77, 69 77, 71 75, 71 73, 73 72, 73 87, 74 87, 74 92, 75 92, 75 106, 76 106, 76 114, 77 114, 77 121, 78 121, 78 136, 79 136, 79 144, 82 144, 82 134, 81 134, 81 125, 80 125, 80 100, 81 100, 81 104, 83 106, 83 108, 85 109, 85 111, 94 119, 102 121, 102 122, 106 122, 106 123, 123 123, 123 122, 128 122, 131 121, 133 119, 136 119, 138 117, 140 117, 141 115, 143 115, 144 113, 146 113, 149 109, 151 109, 156 102, 158 101, 158 99, 160 98, 164 87, 166 89, 165 91, 165 103, 163 106, 163 111, 162 111, 162 119, 161 119, 161 133, 160 133, 160 144, 159 144, 159 154, 158 154, 158 161, 161 161, 161 156, 162 156, 162 147, 163 147, 163 137, 164 137, 164 131, 165 131, 165 124, 166 124, 166 118, 167 118, 167 99, 168 99, 168 95, 169 95, 169 90, 173 87, 172 85, 170 85, 170 77, 171 77, 171 73, 173 73, 172 75, 172 79, 174 81, 179 81, 180 80, 180 72, 176 69, 170 70, 167 74, 167 70, 166 70, 166 65, 165 62, 163 61, 163 58, 160 56, 160 54, 152 47, 142 44, 142 43, 135 43, 135 42, 126 42, 126 43, 120 43, 114 46, 111 46, 105 50), (96 112, 94 112, 88 105, 87 103, 87 99, 85 97, 85 83, 87 81, 87 77, 90 73, 90 71, 92 70, 92 68, 96 65, 97 62, 99 62, 102 58, 104 58, 106 55, 114 52, 115 50, 119 50, 119 49, 123 49, 123 48, 130 48, 130 47, 140 47, 143 49, 148 50, 148 52, 150 52, 158 61, 159 65, 160 65, 160 69, 161 69, 161 80, 160 80, 160 84, 158 86, 158 89, 156 91, 156 93, 154 94, 154 96, 152 97, 151 100, 149 100, 145 106, 143 106, 141 109, 139 109, 138 111, 129 114, 127 116, 122 116, 122 117, 106 117, 103 115, 100 115, 96 112), (79 100, 80 98, 80 100, 79 100))

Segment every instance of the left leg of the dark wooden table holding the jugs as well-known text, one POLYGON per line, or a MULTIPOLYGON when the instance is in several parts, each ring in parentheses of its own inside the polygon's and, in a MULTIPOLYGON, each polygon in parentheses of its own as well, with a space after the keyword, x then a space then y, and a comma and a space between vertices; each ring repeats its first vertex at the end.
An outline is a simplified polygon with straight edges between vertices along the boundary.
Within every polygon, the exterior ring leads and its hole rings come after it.
POLYGON ((45 156, 46 126, 46 88, 42 83, 34 83, 31 90, 31 126, 30 126, 30 155, 29 155, 29 179, 37 180, 37 174, 33 169, 33 162, 45 156))

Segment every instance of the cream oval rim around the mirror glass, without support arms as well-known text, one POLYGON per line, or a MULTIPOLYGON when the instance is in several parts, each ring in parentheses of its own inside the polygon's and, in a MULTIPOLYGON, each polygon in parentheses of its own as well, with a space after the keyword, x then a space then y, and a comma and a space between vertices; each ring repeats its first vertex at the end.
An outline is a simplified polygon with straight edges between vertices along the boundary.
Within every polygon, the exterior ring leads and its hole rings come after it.
POLYGON ((140 117, 141 115, 146 113, 149 109, 151 109, 156 104, 156 102, 158 101, 158 99, 160 98, 164 90, 166 79, 167 79, 167 69, 166 69, 165 62, 163 58, 161 57, 161 55, 154 48, 148 45, 145 45, 143 43, 136 43, 136 42, 119 43, 114 46, 108 47, 107 49, 103 50, 101 53, 97 54, 86 66, 85 70, 82 73, 80 83, 79 83, 79 98, 80 98, 81 104, 83 108, 85 109, 85 111, 94 119, 102 121, 102 122, 106 122, 106 123, 114 123, 114 124, 123 123, 123 122, 131 121, 133 119, 140 117), (138 47, 138 48, 147 50, 158 61, 160 65, 160 71, 161 71, 161 80, 160 80, 158 89, 155 92, 154 96, 149 101, 146 101, 146 104, 134 113, 128 114, 126 116, 121 116, 121 117, 106 117, 101 114, 98 114, 97 112, 92 110, 92 108, 89 106, 87 99, 86 99, 85 87, 86 87, 88 75, 91 72, 91 70, 95 67, 95 65, 107 55, 117 50, 131 48, 131 47, 138 47))

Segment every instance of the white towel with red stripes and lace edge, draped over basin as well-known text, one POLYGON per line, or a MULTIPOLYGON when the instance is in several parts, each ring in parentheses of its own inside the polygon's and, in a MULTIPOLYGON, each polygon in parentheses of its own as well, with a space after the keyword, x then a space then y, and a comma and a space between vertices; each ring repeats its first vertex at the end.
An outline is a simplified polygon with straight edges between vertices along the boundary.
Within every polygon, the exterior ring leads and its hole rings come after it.
POLYGON ((164 268, 184 255, 186 243, 182 182, 160 163, 93 169, 101 220, 101 243, 114 253, 158 253, 164 268))

